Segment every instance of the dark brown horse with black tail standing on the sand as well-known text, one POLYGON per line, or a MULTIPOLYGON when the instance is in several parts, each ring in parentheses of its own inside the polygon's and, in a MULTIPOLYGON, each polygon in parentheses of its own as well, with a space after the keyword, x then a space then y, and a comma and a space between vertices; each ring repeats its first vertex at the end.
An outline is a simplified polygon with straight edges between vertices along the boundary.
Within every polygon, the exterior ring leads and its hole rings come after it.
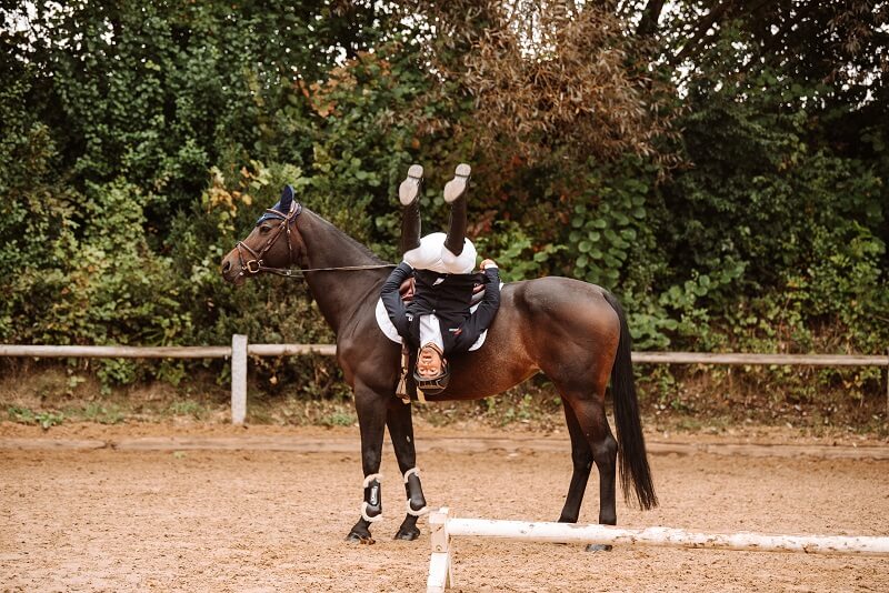
MULTIPOLYGON (((354 391, 361 429, 364 504, 349 540, 370 541, 380 519, 379 469, 383 432, 389 434, 404 474, 408 515, 397 539, 419 535, 426 507, 413 446, 411 406, 396 396, 400 352, 379 329, 374 308, 392 267, 318 214, 281 201, 222 260, 222 275, 240 284, 260 272, 303 275, 324 319, 337 333, 337 360, 354 391), (298 265, 300 270, 288 270, 298 265)), ((599 522, 617 523, 615 478, 620 452, 625 497, 635 492, 642 509, 657 505, 630 360, 630 334, 617 299, 605 289, 567 278, 510 282, 485 344, 451 356, 448 389, 430 401, 487 398, 543 372, 562 399, 571 435, 573 473, 559 521, 575 523, 592 463, 599 470, 599 522), (611 378, 620 446, 611 434, 605 392, 611 378)))

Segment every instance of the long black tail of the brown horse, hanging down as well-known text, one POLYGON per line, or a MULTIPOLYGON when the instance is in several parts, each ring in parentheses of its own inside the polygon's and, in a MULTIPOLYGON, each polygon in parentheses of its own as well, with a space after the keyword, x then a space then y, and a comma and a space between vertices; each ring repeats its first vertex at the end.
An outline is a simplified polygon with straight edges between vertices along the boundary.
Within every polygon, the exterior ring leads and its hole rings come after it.
POLYGON ((639 421, 639 402, 636 398, 636 381, 632 374, 632 338, 627 325, 627 316, 617 298, 605 292, 608 301, 620 319, 620 343, 611 368, 611 396, 615 400, 615 420, 620 443, 620 485, 627 502, 630 501, 630 482, 642 510, 658 505, 651 470, 648 466, 646 440, 639 421))

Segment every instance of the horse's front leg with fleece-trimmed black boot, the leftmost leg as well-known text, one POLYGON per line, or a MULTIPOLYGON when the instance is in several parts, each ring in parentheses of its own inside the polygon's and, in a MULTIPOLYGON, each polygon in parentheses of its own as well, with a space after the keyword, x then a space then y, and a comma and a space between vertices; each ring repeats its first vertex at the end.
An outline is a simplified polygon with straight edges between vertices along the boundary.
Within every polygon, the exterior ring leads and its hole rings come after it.
POLYGON ((354 524, 347 541, 373 543, 370 524, 382 519, 382 493, 380 462, 382 460, 382 436, 386 430, 386 408, 389 394, 380 393, 356 383, 354 408, 358 425, 361 429, 361 468, 364 472, 364 501, 361 503, 361 519, 354 524))

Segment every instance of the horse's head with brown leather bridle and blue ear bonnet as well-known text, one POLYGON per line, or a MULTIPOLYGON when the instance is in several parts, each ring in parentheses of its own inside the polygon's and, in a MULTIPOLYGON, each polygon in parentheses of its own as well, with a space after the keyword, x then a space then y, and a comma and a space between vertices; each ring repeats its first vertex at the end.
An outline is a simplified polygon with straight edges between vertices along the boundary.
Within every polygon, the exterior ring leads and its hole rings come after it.
POLYGON ((299 263, 306 252, 297 231, 300 212, 302 205, 293 199, 293 188, 286 185, 278 203, 266 210, 250 234, 222 258, 222 278, 240 284, 259 272, 299 263))

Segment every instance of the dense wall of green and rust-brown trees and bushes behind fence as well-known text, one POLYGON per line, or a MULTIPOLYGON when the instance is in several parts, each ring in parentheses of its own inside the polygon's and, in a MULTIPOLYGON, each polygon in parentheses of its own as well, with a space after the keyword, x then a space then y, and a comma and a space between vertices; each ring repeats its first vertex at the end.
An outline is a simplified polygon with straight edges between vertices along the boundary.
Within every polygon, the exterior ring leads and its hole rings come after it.
POLYGON ((221 255, 292 183, 394 259, 407 167, 431 230, 469 161, 480 251, 615 291, 638 349, 881 352, 886 9, 621 4, 0 3, 0 340, 331 341, 302 284, 234 291, 221 255))

